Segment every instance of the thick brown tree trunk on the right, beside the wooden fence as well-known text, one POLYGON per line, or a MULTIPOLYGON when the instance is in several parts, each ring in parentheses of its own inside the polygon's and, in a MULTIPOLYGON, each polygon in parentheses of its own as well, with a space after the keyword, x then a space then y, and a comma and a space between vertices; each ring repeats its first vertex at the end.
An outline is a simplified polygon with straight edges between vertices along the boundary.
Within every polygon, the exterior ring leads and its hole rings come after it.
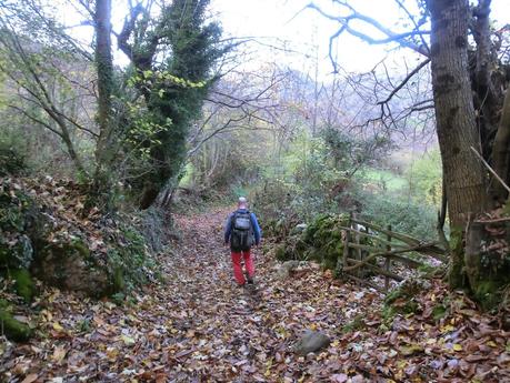
POLYGON ((468 67, 467 0, 429 0, 431 12, 432 89, 439 147, 443 167, 448 213, 452 235, 450 283, 457 288, 464 278, 462 241, 472 213, 486 204, 484 171, 471 152, 479 150, 468 67))

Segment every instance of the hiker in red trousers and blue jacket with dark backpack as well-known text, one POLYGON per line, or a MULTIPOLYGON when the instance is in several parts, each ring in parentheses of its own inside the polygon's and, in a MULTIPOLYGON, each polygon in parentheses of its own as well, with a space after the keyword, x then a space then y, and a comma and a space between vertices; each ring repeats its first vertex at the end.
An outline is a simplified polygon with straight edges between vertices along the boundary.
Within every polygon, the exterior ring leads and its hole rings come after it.
POLYGON ((244 259, 247 280, 253 283, 254 264, 250 253, 253 244, 260 243, 260 226, 257 216, 248 210, 248 201, 241 196, 238 201, 238 209, 230 213, 224 228, 224 244, 230 243, 230 252, 233 264, 233 276, 239 285, 247 282, 242 273, 241 258, 244 259))

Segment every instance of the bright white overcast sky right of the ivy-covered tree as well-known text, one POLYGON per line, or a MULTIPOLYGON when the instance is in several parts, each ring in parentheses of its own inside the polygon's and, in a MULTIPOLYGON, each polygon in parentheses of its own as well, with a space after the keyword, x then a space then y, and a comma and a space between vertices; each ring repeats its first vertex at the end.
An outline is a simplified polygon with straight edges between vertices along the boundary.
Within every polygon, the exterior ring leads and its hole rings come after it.
MULTIPOLYGON (((314 47, 318 47, 320 72, 321 75, 327 75, 332 71, 328 59, 329 37, 337 31, 338 24, 311 9, 303 10, 309 2, 310 0, 212 0, 211 9, 217 12, 224 33, 229 36, 261 37, 261 41, 268 43, 278 38, 288 41, 289 47, 310 56, 310 60, 306 60, 304 57, 286 57, 272 52, 267 58, 261 51, 261 60, 287 60, 296 69, 309 71, 314 65, 314 47)), ((333 9, 330 0, 316 0, 316 3, 328 10, 333 9)), ((406 3, 412 7, 414 1, 406 3)), ((394 0, 352 0, 351 4, 390 29, 398 29, 394 24, 403 16, 394 0)), ((510 23, 510 0, 493 0, 491 16, 499 26, 510 23)), ((338 39, 336 52, 338 62, 347 71, 369 71, 390 51, 394 51, 396 47, 370 46, 346 33, 338 39)), ((403 49, 390 57, 399 64, 402 56, 408 60, 419 59, 418 54, 403 49)))

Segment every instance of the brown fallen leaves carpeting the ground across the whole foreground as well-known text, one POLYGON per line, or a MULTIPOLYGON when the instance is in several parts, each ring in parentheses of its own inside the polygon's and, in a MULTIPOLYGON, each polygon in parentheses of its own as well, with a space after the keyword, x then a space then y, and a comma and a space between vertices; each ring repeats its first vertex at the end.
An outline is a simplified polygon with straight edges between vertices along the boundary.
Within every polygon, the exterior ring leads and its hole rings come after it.
POLYGON ((38 324, 34 339, 0 344, 2 380, 510 382, 510 333, 439 280, 416 296, 416 313, 387 323, 380 293, 316 264, 279 276, 268 243, 254 251, 257 288, 237 286, 221 243, 227 213, 177 216, 181 238, 159 255, 164 281, 122 305, 43 290, 26 313, 38 324), (344 331, 357 318, 363 325, 344 331), (296 354, 307 330, 327 334, 329 347, 296 354))

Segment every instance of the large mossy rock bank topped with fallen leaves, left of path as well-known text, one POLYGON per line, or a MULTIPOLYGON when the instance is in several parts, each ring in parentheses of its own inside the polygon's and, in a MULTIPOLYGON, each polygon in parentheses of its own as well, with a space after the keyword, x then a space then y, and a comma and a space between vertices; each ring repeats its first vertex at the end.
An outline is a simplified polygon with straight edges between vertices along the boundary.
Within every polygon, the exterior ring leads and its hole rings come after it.
MULTIPOLYGON (((31 276, 97 298, 158 278, 142 234, 157 222, 156 213, 137 220, 119 213, 114 222, 83 220, 76 209, 83 190, 70 182, 46 181, 40 187, 0 179, 0 275, 13 281, 19 295, 32 299, 31 276)), ((160 246, 157 238, 150 238, 152 248, 160 246)))

